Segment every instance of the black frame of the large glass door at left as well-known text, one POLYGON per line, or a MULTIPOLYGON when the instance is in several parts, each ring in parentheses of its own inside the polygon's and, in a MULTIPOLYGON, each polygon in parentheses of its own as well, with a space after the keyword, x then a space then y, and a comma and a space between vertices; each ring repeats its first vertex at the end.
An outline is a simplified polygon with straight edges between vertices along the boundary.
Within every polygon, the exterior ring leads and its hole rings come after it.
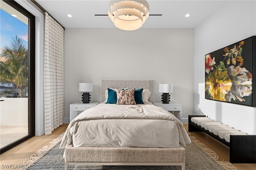
POLYGON ((35 16, 14 0, 3 1, 28 17, 28 135, 1 148, 0 154, 35 136, 35 16))

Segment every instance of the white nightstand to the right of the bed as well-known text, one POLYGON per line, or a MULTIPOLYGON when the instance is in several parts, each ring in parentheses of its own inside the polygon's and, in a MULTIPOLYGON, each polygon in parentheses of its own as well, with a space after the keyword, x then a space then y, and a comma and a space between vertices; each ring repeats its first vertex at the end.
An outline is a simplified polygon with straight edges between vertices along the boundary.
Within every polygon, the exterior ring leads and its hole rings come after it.
POLYGON ((176 116, 180 121, 182 118, 182 105, 179 103, 169 102, 164 104, 162 102, 152 102, 154 105, 164 108, 166 111, 172 111, 171 113, 176 116))

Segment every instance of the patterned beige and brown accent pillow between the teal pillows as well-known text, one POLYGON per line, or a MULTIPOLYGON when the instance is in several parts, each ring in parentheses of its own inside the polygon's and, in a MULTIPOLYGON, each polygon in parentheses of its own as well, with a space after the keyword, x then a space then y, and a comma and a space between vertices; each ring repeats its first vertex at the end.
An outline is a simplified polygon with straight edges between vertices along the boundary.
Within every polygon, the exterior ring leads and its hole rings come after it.
POLYGON ((119 90, 116 89, 117 105, 136 105, 134 99, 134 89, 119 90))

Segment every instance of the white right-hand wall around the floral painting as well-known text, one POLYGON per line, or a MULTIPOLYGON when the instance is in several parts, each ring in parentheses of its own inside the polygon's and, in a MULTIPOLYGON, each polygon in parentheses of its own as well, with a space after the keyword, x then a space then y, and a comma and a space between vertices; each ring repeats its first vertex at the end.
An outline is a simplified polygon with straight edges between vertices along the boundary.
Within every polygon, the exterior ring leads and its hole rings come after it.
MULTIPOLYGON (((254 107, 204 99, 205 55, 256 35, 256 1, 232 1, 194 30, 194 114, 256 134, 254 107)), ((255 76, 255 75, 254 75, 255 76)), ((255 93, 255 92, 254 92, 255 93)))

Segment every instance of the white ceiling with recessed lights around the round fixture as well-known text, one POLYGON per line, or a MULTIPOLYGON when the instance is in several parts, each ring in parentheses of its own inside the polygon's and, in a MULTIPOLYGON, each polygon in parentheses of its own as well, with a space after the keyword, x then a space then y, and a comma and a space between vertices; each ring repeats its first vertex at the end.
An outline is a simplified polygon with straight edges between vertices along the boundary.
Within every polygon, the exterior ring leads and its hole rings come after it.
MULTIPOLYGON (((108 16, 110 0, 36 0, 65 28, 115 28, 108 16), (71 14, 72 18, 67 15, 71 14)), ((147 0, 150 14, 142 28, 194 28, 226 0, 147 0), (186 14, 190 17, 185 17, 186 14)))

